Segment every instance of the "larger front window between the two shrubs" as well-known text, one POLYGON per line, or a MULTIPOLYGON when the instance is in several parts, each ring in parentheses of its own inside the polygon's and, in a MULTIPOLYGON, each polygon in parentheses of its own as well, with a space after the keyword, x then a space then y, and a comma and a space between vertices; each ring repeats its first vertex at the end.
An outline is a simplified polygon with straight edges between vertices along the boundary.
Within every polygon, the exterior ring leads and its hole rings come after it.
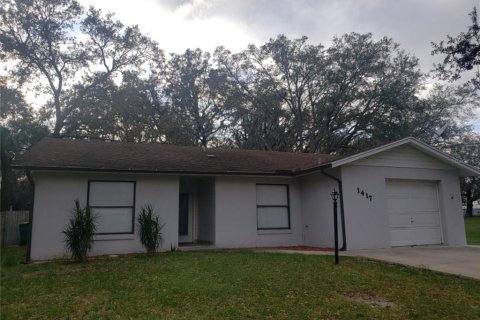
POLYGON ((88 206, 97 214, 96 234, 132 234, 135 182, 89 181, 88 206))

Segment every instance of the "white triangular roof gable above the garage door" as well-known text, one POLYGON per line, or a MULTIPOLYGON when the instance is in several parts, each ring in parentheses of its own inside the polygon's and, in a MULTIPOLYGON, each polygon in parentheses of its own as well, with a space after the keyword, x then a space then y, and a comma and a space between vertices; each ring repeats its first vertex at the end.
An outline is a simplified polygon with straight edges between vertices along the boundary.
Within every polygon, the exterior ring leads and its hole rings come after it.
POLYGON ((457 169, 462 176, 480 175, 480 170, 477 168, 412 137, 334 160, 331 166, 335 168, 346 164, 457 169))

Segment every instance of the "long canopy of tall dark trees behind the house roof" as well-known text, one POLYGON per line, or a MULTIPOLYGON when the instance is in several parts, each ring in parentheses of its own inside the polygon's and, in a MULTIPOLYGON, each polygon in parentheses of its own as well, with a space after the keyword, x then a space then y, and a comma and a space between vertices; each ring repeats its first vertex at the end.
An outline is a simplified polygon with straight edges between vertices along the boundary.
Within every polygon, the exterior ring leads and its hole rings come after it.
POLYGON ((47 97, 41 120, 55 136, 345 153, 458 135, 478 104, 467 88, 425 94, 418 60, 371 34, 328 47, 279 35, 238 53, 165 58, 137 26, 75 0, 6 0, 0 15, 10 80, 47 97))

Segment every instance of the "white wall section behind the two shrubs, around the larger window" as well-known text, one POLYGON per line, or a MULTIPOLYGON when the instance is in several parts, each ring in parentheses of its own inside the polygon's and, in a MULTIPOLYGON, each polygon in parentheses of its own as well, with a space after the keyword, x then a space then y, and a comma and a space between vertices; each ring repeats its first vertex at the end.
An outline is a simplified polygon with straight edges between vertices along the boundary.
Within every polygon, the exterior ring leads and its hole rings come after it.
MULTIPOLYGON (((140 208, 151 204, 160 214, 161 250, 178 245, 178 177, 103 174, 33 172, 35 199, 32 228, 32 260, 63 257, 66 253, 62 230, 68 223, 75 199, 81 206, 87 202, 88 180, 136 181, 135 216, 140 208)), ((135 220, 134 234, 97 235, 90 255, 144 252, 135 220)))

